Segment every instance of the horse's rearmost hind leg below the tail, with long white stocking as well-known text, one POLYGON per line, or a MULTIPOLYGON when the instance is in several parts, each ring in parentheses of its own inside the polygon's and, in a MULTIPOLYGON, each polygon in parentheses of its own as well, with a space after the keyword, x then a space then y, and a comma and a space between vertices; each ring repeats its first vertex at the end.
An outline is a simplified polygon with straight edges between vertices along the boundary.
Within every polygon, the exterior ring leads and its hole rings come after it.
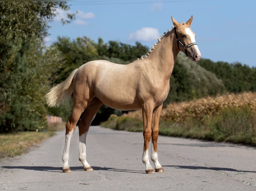
POLYGON ((69 120, 66 123, 66 137, 65 137, 65 145, 64 151, 62 154, 62 162, 63 162, 63 172, 71 172, 69 166, 69 149, 70 149, 70 141, 71 138, 76 130, 76 124, 78 122, 79 117, 81 116, 82 112, 84 111, 84 107, 74 107, 72 109, 71 115, 69 120))

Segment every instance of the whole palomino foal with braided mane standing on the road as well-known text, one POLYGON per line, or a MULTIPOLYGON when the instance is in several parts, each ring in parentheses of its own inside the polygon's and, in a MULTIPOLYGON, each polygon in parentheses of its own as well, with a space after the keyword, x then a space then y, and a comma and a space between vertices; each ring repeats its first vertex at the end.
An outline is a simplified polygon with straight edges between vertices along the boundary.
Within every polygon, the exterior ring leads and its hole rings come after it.
MULTIPOLYGON (((172 18, 172 17, 171 17, 172 18)), ((63 172, 71 172, 69 167, 70 140, 76 129, 79 117, 85 113, 79 127, 79 160, 84 170, 93 168, 86 160, 86 135, 89 126, 101 105, 120 110, 142 109, 144 146, 142 162, 146 172, 163 172, 158 162, 157 138, 158 123, 162 103, 169 93, 169 79, 179 51, 192 61, 199 61, 201 53, 195 41, 195 33, 189 28, 193 17, 186 23, 178 23, 172 18, 173 29, 161 35, 150 53, 128 65, 114 64, 105 60, 90 61, 78 69, 61 84, 46 94, 48 106, 58 106, 73 92, 73 108, 66 123, 65 148, 62 155, 63 172), (149 163, 149 142, 151 160, 149 163)))

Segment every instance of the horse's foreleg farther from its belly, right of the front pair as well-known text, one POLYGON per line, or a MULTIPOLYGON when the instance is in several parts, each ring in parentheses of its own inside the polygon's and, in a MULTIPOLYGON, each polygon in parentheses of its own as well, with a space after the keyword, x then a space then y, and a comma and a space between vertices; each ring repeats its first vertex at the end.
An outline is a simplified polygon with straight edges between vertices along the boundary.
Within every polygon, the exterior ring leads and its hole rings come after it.
POLYGON ((158 162, 158 155, 157 155, 157 139, 158 139, 158 132, 159 132, 159 118, 160 118, 161 110, 162 110, 162 104, 159 107, 154 109, 153 116, 152 116, 151 160, 155 165, 156 172, 163 172, 163 167, 158 162))

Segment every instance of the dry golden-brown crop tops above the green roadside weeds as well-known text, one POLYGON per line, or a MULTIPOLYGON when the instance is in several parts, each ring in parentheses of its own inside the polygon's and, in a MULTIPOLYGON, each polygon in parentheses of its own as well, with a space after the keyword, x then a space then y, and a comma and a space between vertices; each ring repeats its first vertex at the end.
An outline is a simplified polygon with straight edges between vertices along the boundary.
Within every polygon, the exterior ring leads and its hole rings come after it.
MULTIPOLYGON (((242 94, 226 94, 216 97, 208 96, 206 98, 184 101, 179 103, 170 103, 162 109, 161 120, 181 122, 187 117, 193 116, 196 119, 204 120, 205 117, 218 115, 223 108, 237 107, 241 108, 248 105, 256 114, 256 93, 245 92, 242 94)), ((123 114, 123 116, 142 120, 142 111, 136 110, 123 114)))

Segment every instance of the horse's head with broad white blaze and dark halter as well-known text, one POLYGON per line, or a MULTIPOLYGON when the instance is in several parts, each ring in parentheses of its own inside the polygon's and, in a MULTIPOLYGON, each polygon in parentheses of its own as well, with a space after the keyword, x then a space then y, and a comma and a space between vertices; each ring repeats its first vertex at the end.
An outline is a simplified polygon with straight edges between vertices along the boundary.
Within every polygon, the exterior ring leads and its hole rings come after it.
POLYGON ((192 61, 198 62, 201 58, 201 53, 195 40, 195 33, 189 28, 193 16, 186 23, 178 23, 171 17, 174 25, 174 32, 177 41, 177 48, 185 53, 185 55, 192 61))

